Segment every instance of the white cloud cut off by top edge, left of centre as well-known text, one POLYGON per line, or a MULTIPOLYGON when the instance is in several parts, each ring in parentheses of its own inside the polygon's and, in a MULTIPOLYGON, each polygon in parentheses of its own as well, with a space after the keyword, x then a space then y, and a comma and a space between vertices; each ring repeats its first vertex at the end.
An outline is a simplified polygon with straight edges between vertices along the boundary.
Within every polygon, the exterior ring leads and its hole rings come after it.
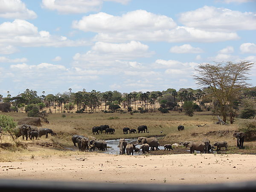
MULTIPOLYGON (((127 4, 130 0, 105 0, 127 4)), ((104 0, 42 0, 42 7, 49 10, 57 10, 61 14, 87 13, 99 11, 104 0)))

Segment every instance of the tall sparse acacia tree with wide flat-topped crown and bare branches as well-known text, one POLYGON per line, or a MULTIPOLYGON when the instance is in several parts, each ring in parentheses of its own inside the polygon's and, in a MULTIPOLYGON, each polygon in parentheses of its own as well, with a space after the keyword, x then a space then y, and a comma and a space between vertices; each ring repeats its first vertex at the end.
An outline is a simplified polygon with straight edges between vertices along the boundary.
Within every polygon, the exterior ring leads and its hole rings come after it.
POLYGON ((212 90, 213 96, 218 101, 219 114, 224 122, 227 120, 227 113, 230 112, 230 123, 233 123, 234 113, 229 110, 239 91, 250 85, 247 83, 249 80, 247 75, 252 66, 253 63, 249 61, 239 63, 227 61, 199 64, 198 69, 195 69, 197 75, 194 79, 201 87, 209 87, 212 90))

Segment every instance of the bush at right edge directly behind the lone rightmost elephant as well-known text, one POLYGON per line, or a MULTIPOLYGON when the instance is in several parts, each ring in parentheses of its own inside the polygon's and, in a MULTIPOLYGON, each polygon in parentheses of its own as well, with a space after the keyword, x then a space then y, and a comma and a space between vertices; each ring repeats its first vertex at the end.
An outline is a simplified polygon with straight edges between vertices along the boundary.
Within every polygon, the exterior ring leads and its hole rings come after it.
POLYGON ((243 123, 239 131, 244 132, 247 141, 256 140, 256 121, 248 120, 243 123))

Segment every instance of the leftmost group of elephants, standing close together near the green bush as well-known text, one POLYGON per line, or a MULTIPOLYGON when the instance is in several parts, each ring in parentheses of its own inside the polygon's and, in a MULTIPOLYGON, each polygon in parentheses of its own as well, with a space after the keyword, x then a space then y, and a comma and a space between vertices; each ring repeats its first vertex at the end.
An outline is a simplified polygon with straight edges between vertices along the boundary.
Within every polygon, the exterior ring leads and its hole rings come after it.
POLYGON ((48 138, 48 134, 51 134, 53 136, 55 133, 53 133, 52 129, 49 129, 49 128, 38 129, 33 125, 23 124, 16 128, 15 137, 18 138, 22 136, 23 140, 25 137, 26 137, 26 140, 28 140, 28 138, 30 140, 34 140, 43 135, 45 135, 45 137, 48 138))

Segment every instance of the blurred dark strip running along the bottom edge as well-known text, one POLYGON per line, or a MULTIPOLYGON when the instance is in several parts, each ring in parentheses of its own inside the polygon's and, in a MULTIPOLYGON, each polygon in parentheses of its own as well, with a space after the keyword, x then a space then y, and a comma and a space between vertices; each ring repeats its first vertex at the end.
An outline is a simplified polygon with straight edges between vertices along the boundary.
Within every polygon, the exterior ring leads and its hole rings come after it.
POLYGON ((0 180, 0 192, 255 192, 255 182, 208 185, 0 180))

